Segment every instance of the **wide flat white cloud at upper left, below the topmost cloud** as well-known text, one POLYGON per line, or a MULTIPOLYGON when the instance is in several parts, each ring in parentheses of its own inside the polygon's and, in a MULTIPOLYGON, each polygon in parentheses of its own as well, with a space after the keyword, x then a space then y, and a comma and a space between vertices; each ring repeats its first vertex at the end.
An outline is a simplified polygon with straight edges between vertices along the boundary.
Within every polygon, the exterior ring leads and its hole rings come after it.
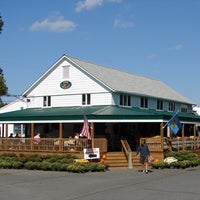
POLYGON ((76 24, 70 20, 64 19, 63 16, 53 16, 42 21, 34 22, 31 31, 49 31, 49 32, 69 32, 76 28, 76 24))

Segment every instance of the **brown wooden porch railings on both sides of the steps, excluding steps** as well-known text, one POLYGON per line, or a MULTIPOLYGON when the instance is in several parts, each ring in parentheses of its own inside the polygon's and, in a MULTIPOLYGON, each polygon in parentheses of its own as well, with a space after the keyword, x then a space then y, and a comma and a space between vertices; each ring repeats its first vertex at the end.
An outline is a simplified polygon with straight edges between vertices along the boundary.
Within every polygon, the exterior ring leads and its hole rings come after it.
MULTIPOLYGON (((146 140, 150 151, 168 152, 184 150, 200 150, 200 137, 174 137, 166 138, 161 136, 141 138, 146 140)), ((106 153, 107 139, 86 138, 40 138, 38 144, 34 144, 34 138, 0 138, 0 151, 21 151, 21 152, 82 152, 84 148, 100 148, 102 153, 106 153)), ((122 145, 123 148, 123 145, 122 145)))

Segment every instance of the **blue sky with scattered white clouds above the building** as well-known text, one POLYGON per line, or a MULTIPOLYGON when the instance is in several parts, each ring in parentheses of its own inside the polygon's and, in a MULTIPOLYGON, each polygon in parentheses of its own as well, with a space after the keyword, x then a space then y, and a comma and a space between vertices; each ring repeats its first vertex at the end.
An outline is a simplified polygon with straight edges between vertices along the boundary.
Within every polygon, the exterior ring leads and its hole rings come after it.
MULTIPOLYGON (((63 54, 158 79, 200 106, 199 0, 0 0, 0 67, 20 95, 63 54)), ((9 101, 9 99, 6 99, 9 101)))

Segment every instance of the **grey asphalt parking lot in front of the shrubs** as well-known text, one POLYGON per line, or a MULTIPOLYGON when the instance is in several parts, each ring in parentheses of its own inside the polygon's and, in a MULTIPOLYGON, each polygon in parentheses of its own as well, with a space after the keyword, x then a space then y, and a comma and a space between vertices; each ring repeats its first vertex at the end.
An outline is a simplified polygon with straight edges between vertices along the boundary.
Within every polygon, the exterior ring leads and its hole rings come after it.
POLYGON ((199 200, 200 167, 75 174, 0 169, 1 200, 199 200))

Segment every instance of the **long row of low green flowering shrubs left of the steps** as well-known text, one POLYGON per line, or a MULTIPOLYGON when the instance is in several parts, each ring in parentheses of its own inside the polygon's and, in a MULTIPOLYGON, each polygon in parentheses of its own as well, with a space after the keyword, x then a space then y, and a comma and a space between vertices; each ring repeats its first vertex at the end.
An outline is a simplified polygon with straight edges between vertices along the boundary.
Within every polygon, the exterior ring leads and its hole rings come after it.
POLYGON ((0 155, 0 168, 28 169, 45 171, 68 171, 74 173, 85 173, 93 171, 105 171, 108 166, 104 163, 89 162, 71 155, 23 155, 14 154, 0 155))

